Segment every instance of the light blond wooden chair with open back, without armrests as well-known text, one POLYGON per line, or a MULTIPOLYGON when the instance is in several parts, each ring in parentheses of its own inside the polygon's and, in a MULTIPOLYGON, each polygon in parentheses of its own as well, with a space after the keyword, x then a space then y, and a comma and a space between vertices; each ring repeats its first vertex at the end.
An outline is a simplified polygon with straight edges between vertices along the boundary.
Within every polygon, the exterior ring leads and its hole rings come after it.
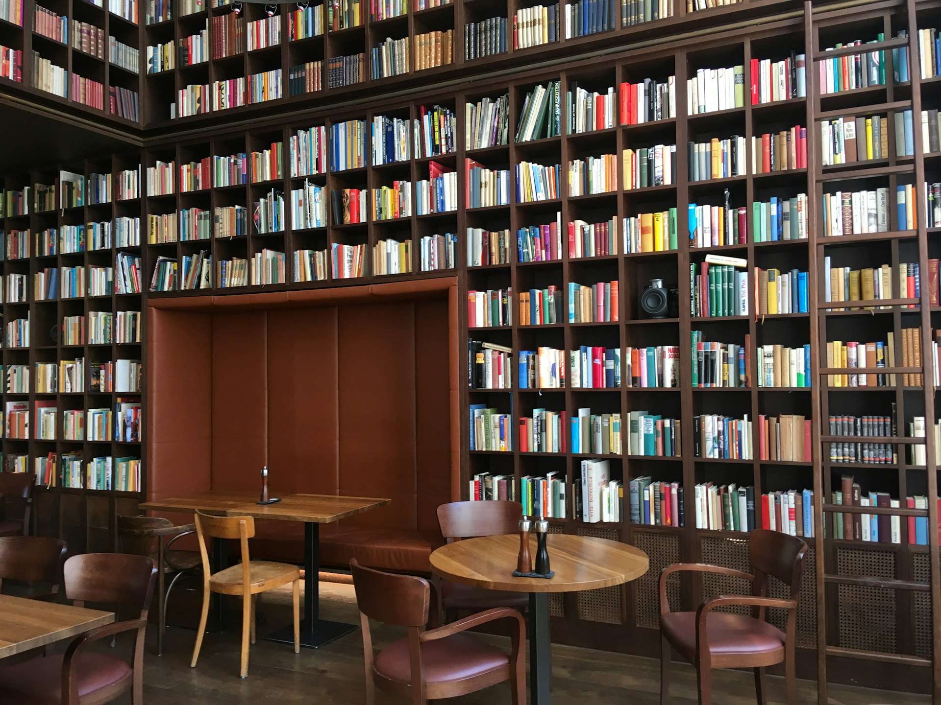
POLYGON ((292 584, 294 598, 295 653, 300 651, 300 569, 287 563, 248 559, 248 540, 255 535, 255 520, 250 516, 211 516, 196 512, 196 534, 199 536, 199 554, 202 556, 202 615, 193 649, 193 662, 199 659, 202 635, 209 618, 209 593, 242 596, 242 678, 248 675, 248 639, 255 643, 255 599, 258 593, 292 584), (206 537, 212 539, 238 539, 242 544, 242 564, 224 571, 210 572, 206 537))

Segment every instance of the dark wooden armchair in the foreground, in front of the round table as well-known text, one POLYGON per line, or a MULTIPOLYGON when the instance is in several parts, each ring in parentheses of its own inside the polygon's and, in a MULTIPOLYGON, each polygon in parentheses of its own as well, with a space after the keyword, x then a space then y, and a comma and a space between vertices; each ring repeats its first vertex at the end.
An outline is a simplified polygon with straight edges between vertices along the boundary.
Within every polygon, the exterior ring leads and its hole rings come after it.
POLYGON ((424 578, 375 571, 350 561, 359 604, 366 666, 366 705, 374 705, 375 688, 410 698, 413 705, 457 697, 509 681, 513 705, 526 705, 526 624, 515 609, 503 607, 471 615, 437 629, 425 630, 431 586, 424 578), (405 627, 407 636, 378 654, 373 652, 369 619, 405 627), (514 622, 509 655, 464 634, 496 619, 514 622))

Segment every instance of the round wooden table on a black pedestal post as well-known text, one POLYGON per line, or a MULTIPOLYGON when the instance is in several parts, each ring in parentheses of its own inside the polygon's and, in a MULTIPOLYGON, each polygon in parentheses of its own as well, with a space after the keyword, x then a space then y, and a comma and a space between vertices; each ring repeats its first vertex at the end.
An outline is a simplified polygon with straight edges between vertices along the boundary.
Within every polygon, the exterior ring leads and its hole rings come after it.
MULTIPOLYGON (((530 553, 535 559, 535 538, 530 553)), ((518 534, 458 540, 431 555, 436 575, 475 587, 530 593, 530 703, 548 705, 550 692, 549 593, 621 585, 647 572, 649 559, 627 543, 588 536, 550 534, 545 578, 516 578, 518 534)))

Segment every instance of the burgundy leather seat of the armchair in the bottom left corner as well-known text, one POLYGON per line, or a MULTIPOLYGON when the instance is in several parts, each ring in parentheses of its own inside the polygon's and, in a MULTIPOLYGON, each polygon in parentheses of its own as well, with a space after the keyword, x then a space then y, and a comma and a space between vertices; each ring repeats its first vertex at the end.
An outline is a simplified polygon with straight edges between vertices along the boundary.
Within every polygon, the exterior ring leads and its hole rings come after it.
MULTIPOLYGON (((117 656, 87 651, 76 658, 78 697, 131 678, 131 666, 117 656)), ((0 702, 4 705, 59 705, 62 702, 62 654, 0 666, 0 702)))

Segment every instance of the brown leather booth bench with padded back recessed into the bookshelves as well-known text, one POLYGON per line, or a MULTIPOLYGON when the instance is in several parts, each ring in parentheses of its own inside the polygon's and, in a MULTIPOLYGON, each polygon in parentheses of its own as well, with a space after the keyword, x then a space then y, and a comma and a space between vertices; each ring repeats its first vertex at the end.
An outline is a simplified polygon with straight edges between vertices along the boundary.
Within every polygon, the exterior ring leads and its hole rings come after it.
MULTIPOLYGON (((320 527, 320 562, 429 572, 458 498, 457 281, 148 302, 149 499, 206 490, 391 498, 320 527), (451 362, 455 361, 455 362, 451 362)), ((252 556, 302 562, 303 525, 252 556)))

